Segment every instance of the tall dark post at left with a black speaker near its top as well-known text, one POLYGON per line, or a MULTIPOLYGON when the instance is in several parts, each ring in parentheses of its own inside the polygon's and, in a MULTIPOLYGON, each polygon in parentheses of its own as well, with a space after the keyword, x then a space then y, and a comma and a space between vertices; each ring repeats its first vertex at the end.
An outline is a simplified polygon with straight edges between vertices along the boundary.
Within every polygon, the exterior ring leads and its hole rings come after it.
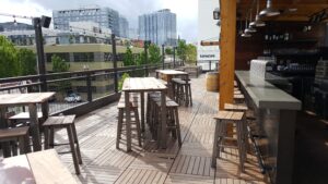
POLYGON ((33 19, 33 25, 35 29, 35 44, 36 44, 36 51, 37 51, 37 66, 38 66, 38 74, 40 81, 40 89, 42 91, 47 91, 47 79, 46 79, 46 65, 45 65, 45 51, 44 51, 44 38, 43 38, 43 29, 42 23, 39 17, 33 19))

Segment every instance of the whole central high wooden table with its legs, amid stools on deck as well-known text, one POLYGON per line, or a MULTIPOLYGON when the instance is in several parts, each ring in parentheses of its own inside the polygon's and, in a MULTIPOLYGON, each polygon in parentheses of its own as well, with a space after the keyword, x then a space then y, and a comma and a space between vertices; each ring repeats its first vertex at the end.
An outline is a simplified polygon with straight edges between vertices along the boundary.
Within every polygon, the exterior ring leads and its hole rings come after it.
POLYGON ((162 148, 166 148, 166 97, 165 91, 167 87, 163 85, 160 81, 154 77, 129 77, 126 78, 122 85, 122 91, 125 94, 125 102, 126 102, 126 126, 127 126, 127 151, 131 150, 131 116, 130 116, 130 95, 129 93, 140 93, 141 98, 141 127, 144 131, 144 93, 148 91, 161 91, 161 122, 159 134, 161 134, 161 138, 157 140, 159 146, 162 148))

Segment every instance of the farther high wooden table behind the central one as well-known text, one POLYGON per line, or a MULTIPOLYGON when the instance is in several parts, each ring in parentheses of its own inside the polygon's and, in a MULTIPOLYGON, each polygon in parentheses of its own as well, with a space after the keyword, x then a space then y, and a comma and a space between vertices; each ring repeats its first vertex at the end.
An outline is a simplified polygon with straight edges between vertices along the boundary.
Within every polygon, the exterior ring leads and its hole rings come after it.
POLYGON ((166 76, 167 88, 168 88, 168 97, 174 97, 174 90, 172 87, 172 78, 176 76, 184 76, 188 79, 188 73, 183 71, 175 71, 175 70, 156 70, 156 77, 159 78, 160 74, 166 76))

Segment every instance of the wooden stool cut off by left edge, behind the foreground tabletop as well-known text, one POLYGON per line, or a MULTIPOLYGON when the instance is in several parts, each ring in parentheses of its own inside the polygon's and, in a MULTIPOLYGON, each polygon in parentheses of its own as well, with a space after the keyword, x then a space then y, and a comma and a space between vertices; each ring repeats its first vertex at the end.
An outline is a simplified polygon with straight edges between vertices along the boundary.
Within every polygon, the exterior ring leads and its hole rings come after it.
MULTIPOLYGON (((13 127, 13 128, 3 128, 0 130, 0 142, 1 143, 5 143, 5 142, 10 142, 12 147, 10 147, 12 149, 13 156, 17 155, 17 147, 16 145, 19 145, 20 147, 20 154, 27 154, 31 152, 31 148, 30 148, 30 136, 28 136, 28 126, 24 126, 24 127, 13 127), (16 144, 19 143, 19 144, 16 144)), ((5 149, 5 148, 2 148, 5 149)))

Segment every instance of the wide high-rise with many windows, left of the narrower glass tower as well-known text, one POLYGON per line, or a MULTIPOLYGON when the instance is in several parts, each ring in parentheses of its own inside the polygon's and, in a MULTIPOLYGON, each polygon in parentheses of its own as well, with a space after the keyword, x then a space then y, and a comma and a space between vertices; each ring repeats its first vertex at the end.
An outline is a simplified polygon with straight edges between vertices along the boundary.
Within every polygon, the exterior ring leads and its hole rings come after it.
POLYGON ((69 30, 70 22, 95 22, 101 27, 110 28, 115 35, 119 35, 119 14, 109 8, 80 8, 73 10, 52 11, 54 27, 69 30))

